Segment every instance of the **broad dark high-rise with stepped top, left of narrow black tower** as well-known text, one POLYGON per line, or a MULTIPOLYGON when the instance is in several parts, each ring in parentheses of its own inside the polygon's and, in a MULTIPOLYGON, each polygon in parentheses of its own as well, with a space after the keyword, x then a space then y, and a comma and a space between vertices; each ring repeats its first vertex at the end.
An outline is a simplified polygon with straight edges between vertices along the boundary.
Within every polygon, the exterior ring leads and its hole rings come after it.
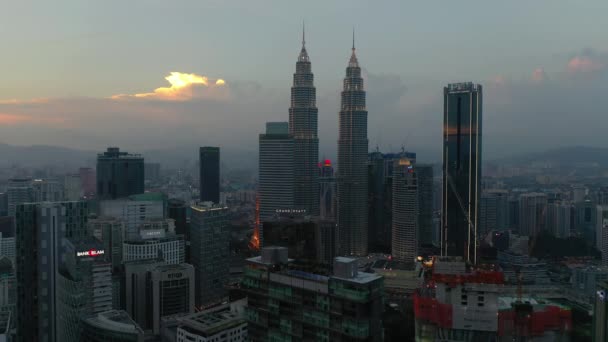
POLYGON ((116 199, 144 192, 144 158, 108 147, 97 155, 97 197, 116 199))

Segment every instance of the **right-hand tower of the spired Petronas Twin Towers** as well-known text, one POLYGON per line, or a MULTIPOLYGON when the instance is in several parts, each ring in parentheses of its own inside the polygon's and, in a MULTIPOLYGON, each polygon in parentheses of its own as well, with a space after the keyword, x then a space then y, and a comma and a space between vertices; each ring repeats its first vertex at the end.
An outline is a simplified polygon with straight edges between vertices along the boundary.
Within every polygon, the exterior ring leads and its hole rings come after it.
POLYGON ((367 109, 361 67, 353 48, 338 116, 338 232, 340 253, 365 256, 367 227, 367 109))

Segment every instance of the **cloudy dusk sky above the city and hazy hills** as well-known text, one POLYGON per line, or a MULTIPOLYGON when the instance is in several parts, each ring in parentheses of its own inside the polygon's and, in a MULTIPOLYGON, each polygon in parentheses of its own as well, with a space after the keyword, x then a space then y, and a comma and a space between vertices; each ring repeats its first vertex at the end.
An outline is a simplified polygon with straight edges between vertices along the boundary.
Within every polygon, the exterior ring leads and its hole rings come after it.
POLYGON ((484 158, 608 147, 608 1, 11 1, 0 143, 255 155, 287 121, 302 22, 333 158, 356 32, 370 149, 438 160, 442 91, 484 87, 484 158))

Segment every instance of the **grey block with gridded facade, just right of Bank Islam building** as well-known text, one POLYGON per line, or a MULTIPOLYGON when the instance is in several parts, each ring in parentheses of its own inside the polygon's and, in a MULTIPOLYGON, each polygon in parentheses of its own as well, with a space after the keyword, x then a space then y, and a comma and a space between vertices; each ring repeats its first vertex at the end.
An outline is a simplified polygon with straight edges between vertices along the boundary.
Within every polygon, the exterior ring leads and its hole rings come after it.
POLYGON ((160 318, 194 313, 194 268, 159 260, 125 263, 127 312, 144 330, 160 332, 160 318))

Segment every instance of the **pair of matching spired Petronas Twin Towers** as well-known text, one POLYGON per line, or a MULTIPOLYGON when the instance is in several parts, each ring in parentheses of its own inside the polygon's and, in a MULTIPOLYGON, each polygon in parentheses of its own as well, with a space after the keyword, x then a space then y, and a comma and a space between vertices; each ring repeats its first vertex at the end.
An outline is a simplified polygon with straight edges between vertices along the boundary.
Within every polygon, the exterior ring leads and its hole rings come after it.
MULTIPOLYGON (((318 109, 314 76, 302 32, 289 108, 294 139, 294 207, 319 214, 318 109)), ((338 253, 367 255, 367 109, 361 68, 355 54, 346 68, 341 95, 338 138, 338 253)))

